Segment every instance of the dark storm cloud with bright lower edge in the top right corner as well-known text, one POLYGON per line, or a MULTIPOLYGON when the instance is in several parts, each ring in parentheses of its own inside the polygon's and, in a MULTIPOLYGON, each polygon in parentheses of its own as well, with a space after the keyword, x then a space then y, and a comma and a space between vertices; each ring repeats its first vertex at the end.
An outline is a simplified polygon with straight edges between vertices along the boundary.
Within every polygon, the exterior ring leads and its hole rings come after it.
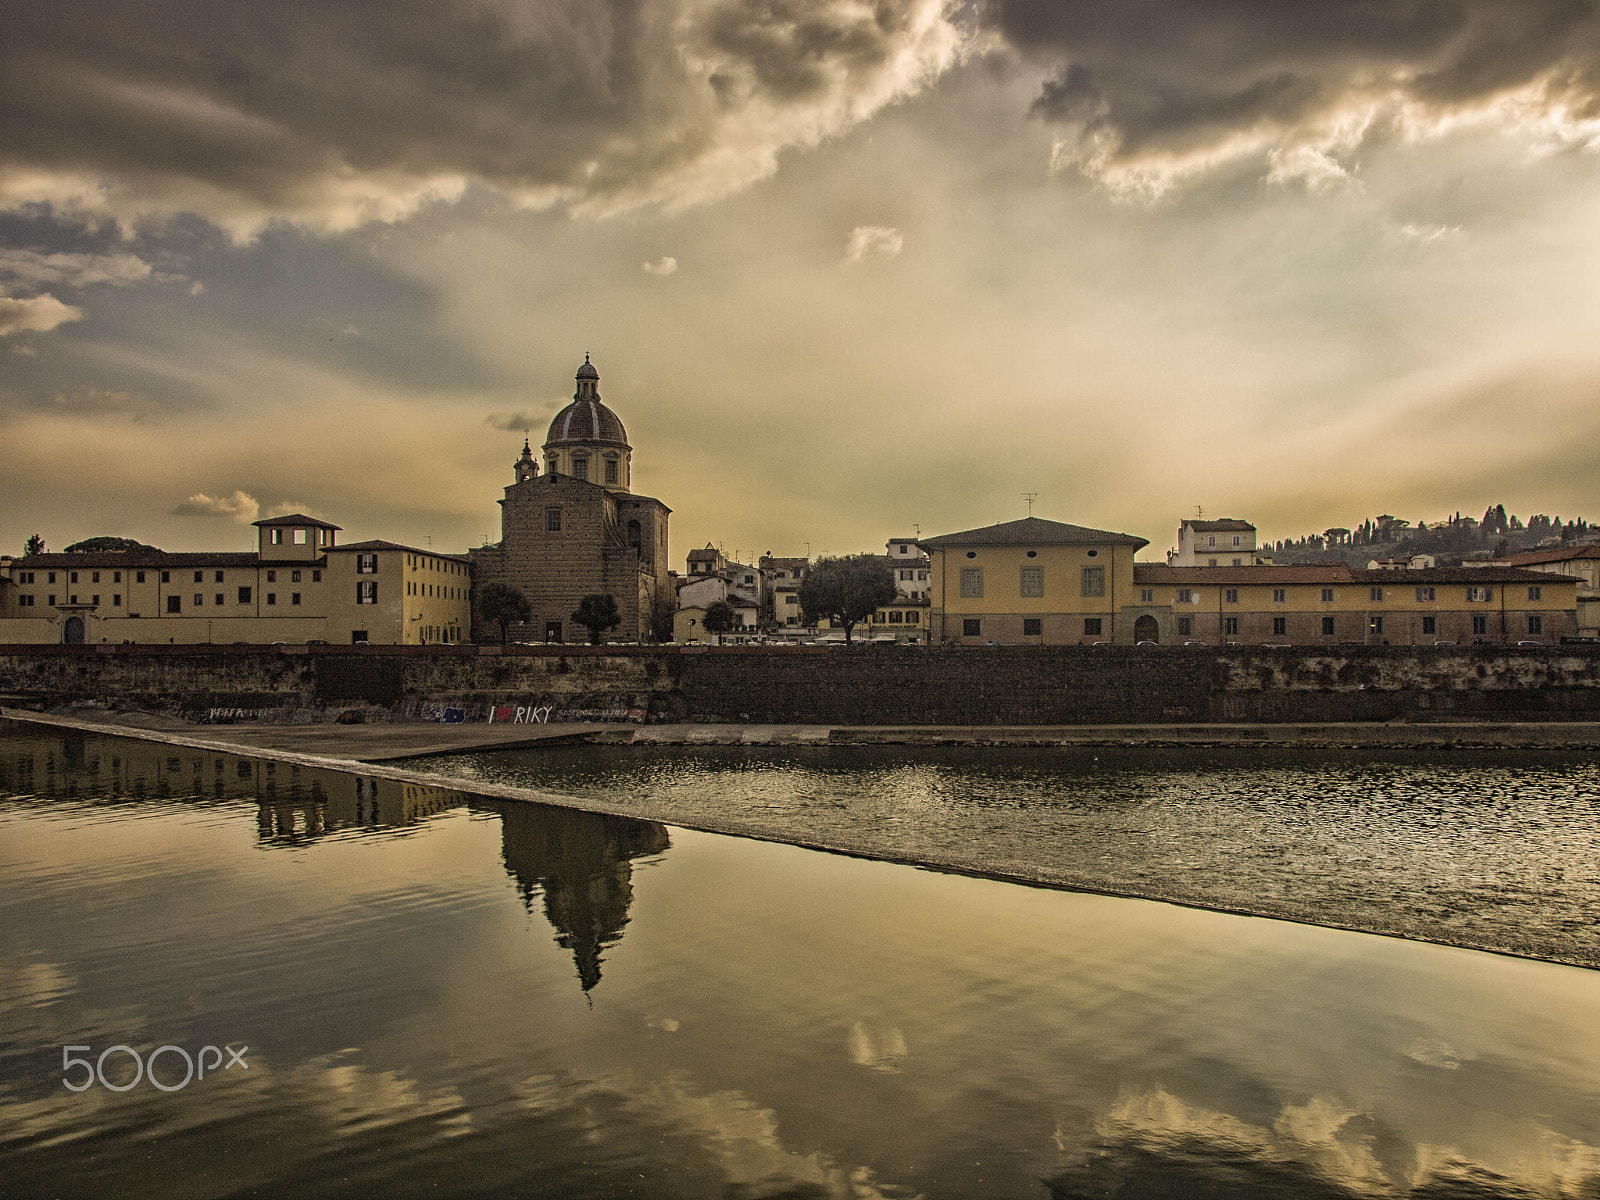
MULTIPOLYGON (((1534 107, 1595 115, 1600 26, 1576 0, 994 0, 1010 45, 1053 67, 1034 112, 1091 171, 1256 149, 1338 149, 1413 106, 1443 115, 1542 88, 1534 107), (1334 130, 1344 117, 1344 128, 1334 130)), ((1413 118, 1414 118, 1413 112, 1413 118)))

